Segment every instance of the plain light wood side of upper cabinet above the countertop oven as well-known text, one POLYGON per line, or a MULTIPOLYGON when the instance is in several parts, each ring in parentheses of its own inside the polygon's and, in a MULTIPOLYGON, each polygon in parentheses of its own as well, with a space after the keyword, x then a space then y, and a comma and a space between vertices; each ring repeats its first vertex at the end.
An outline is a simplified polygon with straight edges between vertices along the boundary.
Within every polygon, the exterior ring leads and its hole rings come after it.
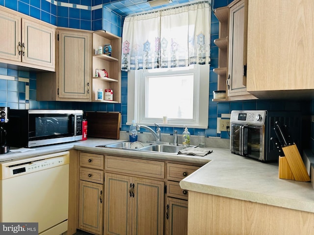
POLYGON ((289 3, 248 4, 247 90, 259 97, 314 94, 314 1, 289 3))

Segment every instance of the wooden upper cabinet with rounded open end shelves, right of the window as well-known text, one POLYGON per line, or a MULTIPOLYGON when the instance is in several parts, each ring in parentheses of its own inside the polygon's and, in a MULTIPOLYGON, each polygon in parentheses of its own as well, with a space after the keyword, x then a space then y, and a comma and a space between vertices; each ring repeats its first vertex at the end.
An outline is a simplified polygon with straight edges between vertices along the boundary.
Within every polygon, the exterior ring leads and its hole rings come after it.
POLYGON ((247 4, 248 0, 234 0, 226 7, 215 9, 219 20, 218 90, 226 90, 226 98, 216 101, 256 99, 246 91, 247 55, 247 4), (226 36, 227 35, 227 36, 226 36))

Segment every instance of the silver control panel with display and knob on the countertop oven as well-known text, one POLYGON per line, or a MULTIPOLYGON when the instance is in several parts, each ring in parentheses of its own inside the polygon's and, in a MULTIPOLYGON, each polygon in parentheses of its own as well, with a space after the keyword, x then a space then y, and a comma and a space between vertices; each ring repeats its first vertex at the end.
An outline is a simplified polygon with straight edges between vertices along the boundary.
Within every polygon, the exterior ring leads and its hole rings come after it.
POLYGON ((233 110, 231 111, 230 122, 263 125, 265 123, 267 111, 265 110, 233 110))

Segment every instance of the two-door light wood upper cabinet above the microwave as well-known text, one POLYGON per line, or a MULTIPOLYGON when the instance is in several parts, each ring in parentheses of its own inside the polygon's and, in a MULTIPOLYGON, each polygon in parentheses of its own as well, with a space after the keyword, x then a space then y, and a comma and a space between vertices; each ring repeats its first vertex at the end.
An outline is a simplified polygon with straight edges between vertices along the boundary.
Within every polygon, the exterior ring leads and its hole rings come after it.
POLYGON ((0 6, 0 62, 55 71, 55 26, 0 6))

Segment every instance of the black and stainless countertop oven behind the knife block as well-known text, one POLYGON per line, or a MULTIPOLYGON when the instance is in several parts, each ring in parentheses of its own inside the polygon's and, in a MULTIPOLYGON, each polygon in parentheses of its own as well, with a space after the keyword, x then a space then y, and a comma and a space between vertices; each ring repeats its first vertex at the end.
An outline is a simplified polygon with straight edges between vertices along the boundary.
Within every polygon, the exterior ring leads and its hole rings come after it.
POLYGON ((275 136, 275 121, 286 125, 301 148, 302 115, 300 112, 266 110, 233 110, 230 123, 230 150, 234 154, 262 162, 278 161, 277 148, 270 141, 275 136))

